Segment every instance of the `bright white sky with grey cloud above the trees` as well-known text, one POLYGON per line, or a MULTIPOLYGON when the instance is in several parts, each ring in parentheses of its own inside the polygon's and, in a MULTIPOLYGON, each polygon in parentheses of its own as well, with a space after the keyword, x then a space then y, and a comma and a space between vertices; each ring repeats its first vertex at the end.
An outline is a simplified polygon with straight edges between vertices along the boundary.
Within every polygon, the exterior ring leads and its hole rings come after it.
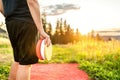
MULTIPOLYGON (((38 0, 53 28, 63 18, 86 34, 91 30, 120 29, 120 0, 38 0)), ((0 15, 1 16, 1 15, 0 15)), ((4 19, 4 18, 3 18, 4 19)), ((0 22, 3 21, 0 18, 0 22)))

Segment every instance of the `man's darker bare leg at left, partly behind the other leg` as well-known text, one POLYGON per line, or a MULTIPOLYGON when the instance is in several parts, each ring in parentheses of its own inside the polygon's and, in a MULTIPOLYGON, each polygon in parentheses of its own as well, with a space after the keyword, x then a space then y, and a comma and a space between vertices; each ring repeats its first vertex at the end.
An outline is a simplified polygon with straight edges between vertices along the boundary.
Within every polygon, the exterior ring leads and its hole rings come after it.
POLYGON ((11 65, 8 80, 16 80, 16 74, 17 74, 17 70, 18 70, 18 65, 19 65, 18 62, 13 62, 13 64, 11 65))

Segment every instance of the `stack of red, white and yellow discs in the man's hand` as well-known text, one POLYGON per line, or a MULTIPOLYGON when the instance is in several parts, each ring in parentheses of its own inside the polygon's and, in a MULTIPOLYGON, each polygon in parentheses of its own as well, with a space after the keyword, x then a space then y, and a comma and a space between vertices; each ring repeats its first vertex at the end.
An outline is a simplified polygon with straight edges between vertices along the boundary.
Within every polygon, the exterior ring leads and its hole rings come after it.
POLYGON ((52 57, 52 44, 47 46, 44 39, 38 40, 36 54, 40 60, 50 60, 52 57))

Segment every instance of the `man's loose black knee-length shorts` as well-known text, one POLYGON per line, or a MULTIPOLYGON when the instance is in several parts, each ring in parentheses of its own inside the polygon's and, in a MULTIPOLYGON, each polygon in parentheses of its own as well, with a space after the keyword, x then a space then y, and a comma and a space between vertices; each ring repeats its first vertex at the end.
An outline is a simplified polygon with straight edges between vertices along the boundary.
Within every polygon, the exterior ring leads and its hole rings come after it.
POLYGON ((14 60, 21 65, 37 63, 38 31, 35 24, 12 20, 7 22, 6 26, 14 52, 14 60))

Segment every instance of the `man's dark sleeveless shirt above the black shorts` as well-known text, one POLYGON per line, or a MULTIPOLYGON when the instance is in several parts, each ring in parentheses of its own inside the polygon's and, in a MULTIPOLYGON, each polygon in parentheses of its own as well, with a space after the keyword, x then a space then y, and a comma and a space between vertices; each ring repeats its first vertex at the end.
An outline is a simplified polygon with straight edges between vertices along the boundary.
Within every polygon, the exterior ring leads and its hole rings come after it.
POLYGON ((33 23, 26 0, 2 0, 6 22, 19 20, 33 23))

